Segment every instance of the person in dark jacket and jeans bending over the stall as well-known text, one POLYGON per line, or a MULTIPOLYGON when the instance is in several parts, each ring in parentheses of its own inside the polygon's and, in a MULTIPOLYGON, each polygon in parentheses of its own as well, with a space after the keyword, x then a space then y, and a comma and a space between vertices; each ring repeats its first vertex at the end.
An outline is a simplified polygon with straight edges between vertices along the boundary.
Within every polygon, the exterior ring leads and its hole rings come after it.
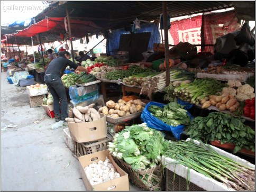
POLYGON ((60 120, 65 122, 65 118, 68 117, 68 100, 66 95, 66 89, 61 81, 61 76, 63 75, 66 67, 69 66, 70 68, 87 72, 85 68, 77 66, 69 59, 70 53, 68 51, 60 51, 59 57, 53 59, 50 62, 44 75, 44 81, 53 97, 53 109, 56 122, 60 120))

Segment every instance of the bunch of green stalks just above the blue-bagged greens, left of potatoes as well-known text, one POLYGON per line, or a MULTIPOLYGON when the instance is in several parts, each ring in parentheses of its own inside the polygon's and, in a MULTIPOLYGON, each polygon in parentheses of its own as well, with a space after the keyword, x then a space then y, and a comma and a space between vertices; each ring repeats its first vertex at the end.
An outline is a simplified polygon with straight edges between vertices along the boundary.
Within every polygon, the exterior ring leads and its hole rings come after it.
POLYGON ((202 99, 221 92, 222 88, 226 86, 226 84, 215 79, 195 79, 193 83, 181 84, 177 87, 170 84, 166 88, 166 92, 169 94, 166 98, 178 97, 186 102, 198 105, 202 99))

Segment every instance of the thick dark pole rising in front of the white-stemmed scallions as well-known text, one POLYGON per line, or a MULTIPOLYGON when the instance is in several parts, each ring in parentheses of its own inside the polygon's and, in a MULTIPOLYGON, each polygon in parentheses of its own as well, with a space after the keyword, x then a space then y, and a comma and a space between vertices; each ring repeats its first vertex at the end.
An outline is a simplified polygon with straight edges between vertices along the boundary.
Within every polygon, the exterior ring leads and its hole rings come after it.
POLYGON ((164 30, 164 49, 166 59, 166 86, 170 84, 170 67, 169 67, 169 40, 168 40, 168 25, 167 25, 167 6, 166 2, 162 2, 163 6, 163 30, 164 30))

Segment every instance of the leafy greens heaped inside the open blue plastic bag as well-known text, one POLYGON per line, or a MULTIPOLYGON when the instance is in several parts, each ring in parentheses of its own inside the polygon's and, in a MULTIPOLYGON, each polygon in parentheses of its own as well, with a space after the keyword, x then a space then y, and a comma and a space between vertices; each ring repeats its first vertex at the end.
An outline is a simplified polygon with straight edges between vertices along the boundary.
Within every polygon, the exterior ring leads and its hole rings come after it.
POLYGON ((188 125, 190 123, 190 117, 184 106, 178 104, 176 101, 164 105, 163 108, 150 105, 148 110, 151 115, 171 126, 188 125))

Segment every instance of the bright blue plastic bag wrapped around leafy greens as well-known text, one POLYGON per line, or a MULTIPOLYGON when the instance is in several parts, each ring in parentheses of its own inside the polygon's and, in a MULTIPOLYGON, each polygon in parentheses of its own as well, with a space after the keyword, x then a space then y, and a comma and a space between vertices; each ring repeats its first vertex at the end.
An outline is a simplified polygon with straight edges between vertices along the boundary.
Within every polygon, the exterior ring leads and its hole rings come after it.
MULTIPOLYGON (((157 129, 157 130, 160 130, 160 131, 170 131, 170 132, 172 132, 173 136, 175 136, 176 139, 180 139, 180 135, 183 132, 183 130, 185 128, 185 125, 171 126, 171 125, 168 125, 166 123, 163 123, 157 117, 150 114, 150 112, 148 111, 148 107, 150 105, 156 105, 156 106, 159 106, 159 107, 162 108, 165 104, 157 103, 157 102, 149 102, 145 106, 145 108, 144 108, 144 110, 141 114, 141 120, 143 122, 147 123, 148 127, 151 127, 153 129, 157 129)), ((187 112, 187 114, 191 118, 193 118, 192 115, 189 112, 187 112)))

